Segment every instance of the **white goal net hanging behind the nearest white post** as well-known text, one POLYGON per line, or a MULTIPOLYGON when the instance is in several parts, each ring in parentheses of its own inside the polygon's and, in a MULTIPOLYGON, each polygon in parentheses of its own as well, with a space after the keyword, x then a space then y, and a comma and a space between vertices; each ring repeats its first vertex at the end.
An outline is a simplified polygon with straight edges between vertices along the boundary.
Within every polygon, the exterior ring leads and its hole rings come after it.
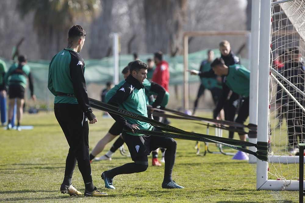
POLYGON ((299 190, 298 144, 305 137, 305 0, 279 1, 271 11, 268 179, 278 180, 279 189, 299 190))

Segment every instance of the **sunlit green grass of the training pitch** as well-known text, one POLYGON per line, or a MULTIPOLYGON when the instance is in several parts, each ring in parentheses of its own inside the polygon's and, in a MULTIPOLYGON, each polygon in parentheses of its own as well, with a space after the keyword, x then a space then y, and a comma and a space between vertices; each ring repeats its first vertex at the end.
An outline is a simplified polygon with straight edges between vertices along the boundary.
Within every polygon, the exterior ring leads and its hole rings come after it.
MULTIPOLYGON (((99 122, 90 125, 91 150, 113 124, 113 119, 102 118, 97 110, 95 113, 99 122)), ((171 121, 173 126, 184 130, 206 132, 201 125, 171 121)), ((116 190, 104 188, 100 178, 104 170, 131 162, 116 152, 112 161, 91 164, 95 185, 106 191, 108 197, 70 197, 59 191, 68 144, 54 113, 25 114, 23 125, 34 125, 34 129, 21 132, 0 129, 0 202, 298 202, 298 191, 256 191, 255 164, 220 154, 197 156, 195 142, 185 140, 177 140, 173 173, 174 180, 185 189, 162 189, 164 166, 151 165, 143 173, 115 177, 116 190)), ((77 167, 72 183, 84 192, 77 167)))

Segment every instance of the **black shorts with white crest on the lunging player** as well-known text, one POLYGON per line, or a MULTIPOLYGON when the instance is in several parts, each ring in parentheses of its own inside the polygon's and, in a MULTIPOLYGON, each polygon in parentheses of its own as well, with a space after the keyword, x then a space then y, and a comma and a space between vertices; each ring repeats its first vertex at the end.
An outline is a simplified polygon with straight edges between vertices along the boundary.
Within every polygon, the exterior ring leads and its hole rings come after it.
MULTIPOLYGON (((152 131, 157 131, 157 129, 153 128, 152 131)), ((150 152, 159 147, 169 149, 172 145, 176 145, 176 141, 168 137, 153 135, 136 136, 127 134, 126 131, 123 131, 122 136, 128 146, 131 159, 135 162, 142 161, 143 157, 147 157, 150 152)))

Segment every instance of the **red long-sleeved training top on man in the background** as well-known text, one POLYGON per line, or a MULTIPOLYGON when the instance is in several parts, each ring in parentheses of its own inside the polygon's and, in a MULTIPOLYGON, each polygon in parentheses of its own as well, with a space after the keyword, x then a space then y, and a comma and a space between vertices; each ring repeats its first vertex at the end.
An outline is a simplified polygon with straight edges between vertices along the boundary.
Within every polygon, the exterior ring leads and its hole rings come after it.
POLYGON ((168 84, 170 82, 170 70, 166 61, 161 61, 156 65, 156 69, 152 75, 152 81, 161 85, 168 92, 168 84))

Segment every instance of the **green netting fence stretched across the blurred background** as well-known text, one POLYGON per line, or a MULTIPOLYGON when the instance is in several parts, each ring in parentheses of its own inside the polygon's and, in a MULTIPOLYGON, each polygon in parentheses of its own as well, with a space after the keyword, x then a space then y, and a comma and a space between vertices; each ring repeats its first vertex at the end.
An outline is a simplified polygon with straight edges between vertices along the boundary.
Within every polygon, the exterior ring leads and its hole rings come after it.
MULTIPOLYGON (((220 56, 218 49, 213 50, 215 57, 220 56)), ((207 49, 197 51, 188 55, 189 69, 199 69, 199 65, 203 59, 206 58, 207 49)), ((146 62, 148 58, 153 58, 153 54, 142 54, 139 55, 140 60, 146 62)), ((6 62, 7 67, 12 64, 12 61, 3 59, 6 62)), ((132 55, 120 55, 119 56, 119 70, 122 69, 133 60, 132 55)), ((170 65, 170 85, 183 85, 183 56, 179 55, 176 57, 164 56, 170 65)), ((105 85, 108 81, 113 81, 114 75, 114 61, 113 57, 84 60, 86 65, 85 79, 88 85, 95 83, 98 85, 105 85)), ((51 105, 54 99, 53 95, 48 91, 48 65, 50 61, 29 61, 28 65, 31 68, 31 72, 34 79, 34 93, 41 105, 51 105)), ((248 59, 242 59, 242 65, 248 67, 248 59)), ((122 74, 120 80, 123 79, 122 74)), ((198 76, 191 75, 189 82, 199 82, 198 76)), ((90 92, 90 90, 88 90, 90 92)))

